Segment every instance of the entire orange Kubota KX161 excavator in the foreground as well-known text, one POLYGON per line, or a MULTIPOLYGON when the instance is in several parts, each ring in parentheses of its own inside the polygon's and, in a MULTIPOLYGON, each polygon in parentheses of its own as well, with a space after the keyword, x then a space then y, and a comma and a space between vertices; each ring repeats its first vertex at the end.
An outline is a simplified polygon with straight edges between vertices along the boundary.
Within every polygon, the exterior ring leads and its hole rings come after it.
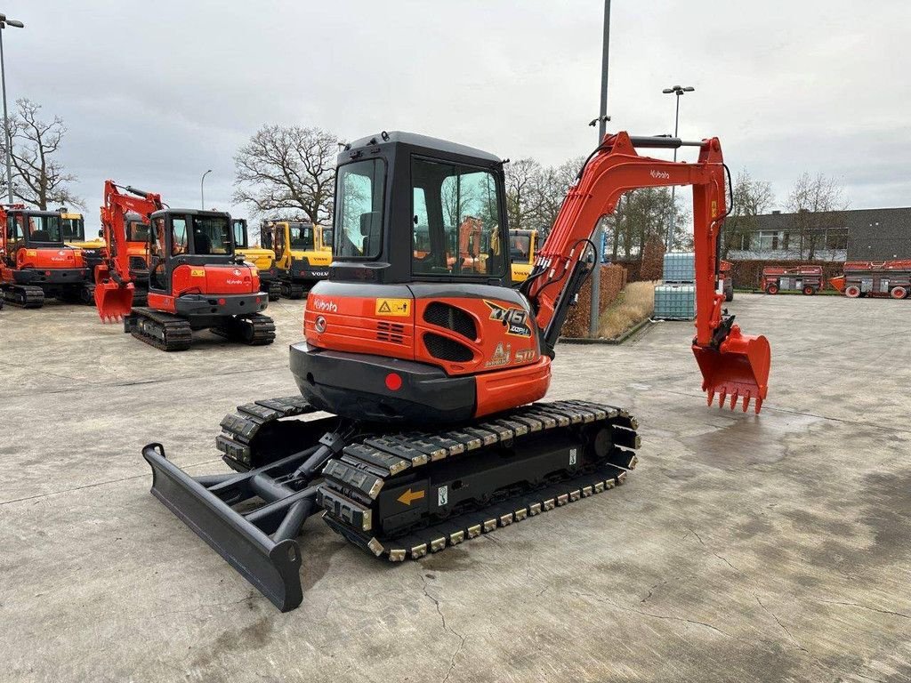
POLYGON ((239 474, 190 476, 149 444, 152 493, 288 610, 302 599, 295 539, 315 512, 398 561, 622 483, 640 443, 630 413, 535 402, 593 266, 591 235, 624 192, 642 187, 693 186, 702 388, 710 404, 720 394, 720 404, 742 399, 746 410, 752 400, 758 413, 769 344, 742 334, 715 292, 725 176, 717 138, 605 136, 517 291, 498 248, 508 243, 499 158, 408 133, 353 142, 339 157, 332 271, 310 292, 305 340, 291 348, 302 396, 241 405, 222 420, 217 445, 239 474), (683 145, 698 147, 699 160, 636 151, 683 145), (466 216, 486 235, 485 272, 452 253, 466 216), (282 419, 303 414, 314 419, 282 419))

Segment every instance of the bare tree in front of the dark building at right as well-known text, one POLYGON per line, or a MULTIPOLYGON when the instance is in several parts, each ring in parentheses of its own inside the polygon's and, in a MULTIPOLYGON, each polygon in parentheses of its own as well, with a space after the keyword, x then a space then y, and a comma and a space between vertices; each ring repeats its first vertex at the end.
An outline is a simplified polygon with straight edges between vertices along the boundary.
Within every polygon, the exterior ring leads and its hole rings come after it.
POLYGON ((834 178, 822 173, 809 173, 797 179, 788 195, 788 210, 794 214, 794 225, 800 236, 801 258, 814 259, 829 229, 843 229, 842 211, 848 208, 843 189, 834 178))

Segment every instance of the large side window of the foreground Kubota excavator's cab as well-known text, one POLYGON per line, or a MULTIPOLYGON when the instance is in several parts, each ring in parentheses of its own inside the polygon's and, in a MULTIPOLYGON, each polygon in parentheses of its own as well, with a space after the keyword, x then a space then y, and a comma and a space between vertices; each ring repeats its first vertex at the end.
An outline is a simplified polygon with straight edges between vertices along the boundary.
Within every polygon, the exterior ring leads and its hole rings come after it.
POLYGON ((414 260, 418 275, 500 277, 499 189, 488 170, 412 161, 414 260))

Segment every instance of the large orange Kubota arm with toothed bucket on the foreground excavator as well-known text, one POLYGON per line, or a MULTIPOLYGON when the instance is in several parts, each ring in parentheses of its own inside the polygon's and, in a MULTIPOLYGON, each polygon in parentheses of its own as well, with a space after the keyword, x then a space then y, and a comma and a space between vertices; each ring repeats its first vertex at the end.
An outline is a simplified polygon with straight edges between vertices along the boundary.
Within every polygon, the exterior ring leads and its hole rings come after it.
POLYGON ((727 215, 725 168, 718 138, 683 142, 679 138, 632 138, 607 135, 586 160, 567 193, 548 239, 537 253, 535 268, 522 290, 534 308, 544 343, 552 352, 569 306, 592 268, 591 237, 599 220, 613 212, 631 189, 690 185, 693 191, 693 242, 696 266, 696 335, 692 350, 702 372, 702 390, 711 404, 730 396, 742 399, 746 411, 755 400, 759 413, 768 390, 769 343, 763 336, 743 335, 733 316, 722 311, 716 293, 718 242, 727 215), (698 146, 695 163, 642 157, 636 148, 698 146), (587 256, 589 257, 587 259, 587 256))

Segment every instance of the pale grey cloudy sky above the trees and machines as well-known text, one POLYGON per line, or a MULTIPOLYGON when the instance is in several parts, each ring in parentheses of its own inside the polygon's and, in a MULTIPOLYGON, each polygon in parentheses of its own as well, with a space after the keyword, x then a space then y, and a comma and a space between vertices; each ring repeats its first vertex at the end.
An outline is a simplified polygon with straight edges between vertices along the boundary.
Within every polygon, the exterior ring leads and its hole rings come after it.
MULTIPOLYGON (((804 171, 852 208, 911 206, 911 4, 614 0, 609 129, 718 136, 783 205, 804 171)), ((105 178, 230 203, 232 155, 264 123, 353 139, 450 138, 546 164, 587 154, 601 0, 9 0, 8 96, 69 128, 62 158, 97 225, 105 178)), ((783 207, 782 207, 783 208, 783 207)))

